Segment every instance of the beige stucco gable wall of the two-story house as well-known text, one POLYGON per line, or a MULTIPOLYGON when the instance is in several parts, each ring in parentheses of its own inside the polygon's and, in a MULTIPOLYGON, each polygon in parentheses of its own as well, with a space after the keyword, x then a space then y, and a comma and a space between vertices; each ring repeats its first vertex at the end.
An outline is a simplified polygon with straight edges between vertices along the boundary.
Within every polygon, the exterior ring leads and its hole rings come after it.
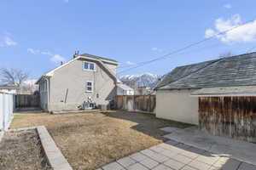
POLYGON ((116 94, 113 79, 97 62, 96 71, 85 71, 83 63, 83 59, 74 60, 50 77, 50 111, 78 110, 89 97, 96 105, 108 105, 113 99, 116 94), (87 81, 93 82, 93 92, 86 92, 87 81))

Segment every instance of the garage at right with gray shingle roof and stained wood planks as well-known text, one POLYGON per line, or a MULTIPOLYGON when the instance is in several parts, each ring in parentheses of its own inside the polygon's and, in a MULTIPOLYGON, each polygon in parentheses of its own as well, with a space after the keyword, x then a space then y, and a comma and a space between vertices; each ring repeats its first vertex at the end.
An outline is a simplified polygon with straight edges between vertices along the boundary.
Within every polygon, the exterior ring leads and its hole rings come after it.
POLYGON ((256 142, 256 53, 179 66, 155 89, 157 117, 256 142))

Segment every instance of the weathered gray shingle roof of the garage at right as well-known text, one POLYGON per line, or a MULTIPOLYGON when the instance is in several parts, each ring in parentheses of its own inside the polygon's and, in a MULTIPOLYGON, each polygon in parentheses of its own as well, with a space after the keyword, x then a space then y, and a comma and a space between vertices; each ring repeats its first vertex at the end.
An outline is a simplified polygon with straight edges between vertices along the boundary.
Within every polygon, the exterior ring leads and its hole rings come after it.
POLYGON ((256 53, 177 67, 156 89, 256 85, 256 53))

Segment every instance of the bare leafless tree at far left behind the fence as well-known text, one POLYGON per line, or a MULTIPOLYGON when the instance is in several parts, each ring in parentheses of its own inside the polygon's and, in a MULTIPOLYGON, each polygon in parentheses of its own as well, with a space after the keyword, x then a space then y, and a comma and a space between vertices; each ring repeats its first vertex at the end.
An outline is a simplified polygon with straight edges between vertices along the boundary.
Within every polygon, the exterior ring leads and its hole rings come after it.
POLYGON ((0 80, 4 84, 20 86, 30 77, 29 73, 19 69, 2 68, 0 80))

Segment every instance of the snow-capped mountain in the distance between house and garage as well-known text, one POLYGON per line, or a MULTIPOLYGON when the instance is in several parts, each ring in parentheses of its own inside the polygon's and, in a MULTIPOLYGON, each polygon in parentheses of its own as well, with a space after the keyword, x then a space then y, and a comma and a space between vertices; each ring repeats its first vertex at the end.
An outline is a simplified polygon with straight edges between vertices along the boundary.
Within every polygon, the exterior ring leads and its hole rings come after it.
POLYGON ((119 78, 122 82, 131 88, 143 86, 153 88, 154 84, 158 82, 160 76, 146 72, 139 75, 126 75, 119 78))

